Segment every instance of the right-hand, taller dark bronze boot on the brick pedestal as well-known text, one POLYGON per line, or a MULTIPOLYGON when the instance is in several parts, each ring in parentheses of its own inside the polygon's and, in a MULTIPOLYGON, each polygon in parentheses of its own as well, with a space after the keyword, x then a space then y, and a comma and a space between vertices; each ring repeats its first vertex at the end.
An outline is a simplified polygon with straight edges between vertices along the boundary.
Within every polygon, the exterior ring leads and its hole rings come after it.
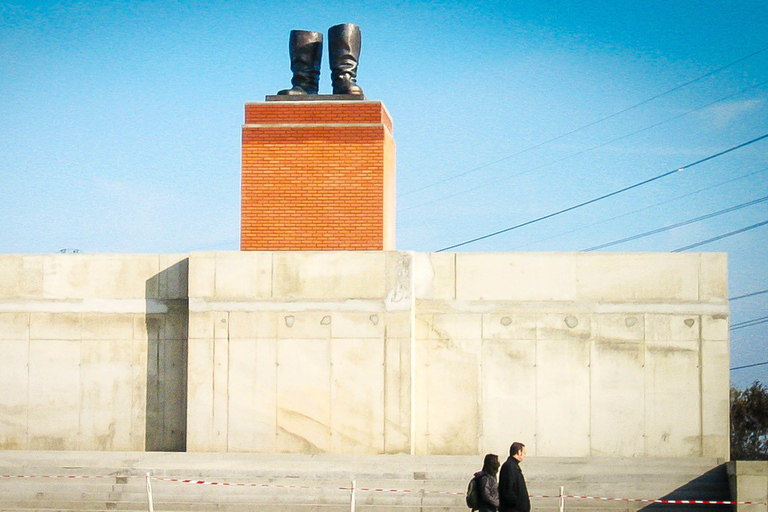
POLYGON ((357 85, 357 63, 360 59, 360 27, 352 23, 328 29, 328 56, 331 64, 333 94, 362 95, 357 85))

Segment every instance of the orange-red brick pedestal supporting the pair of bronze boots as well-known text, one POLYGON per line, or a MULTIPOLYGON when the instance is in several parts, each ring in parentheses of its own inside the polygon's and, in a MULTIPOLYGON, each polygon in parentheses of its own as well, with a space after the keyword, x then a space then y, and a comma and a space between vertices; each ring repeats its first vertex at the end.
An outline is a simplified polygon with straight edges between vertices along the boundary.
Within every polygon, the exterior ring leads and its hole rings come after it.
POLYGON ((395 143, 375 101, 247 103, 243 251, 394 250, 395 143))

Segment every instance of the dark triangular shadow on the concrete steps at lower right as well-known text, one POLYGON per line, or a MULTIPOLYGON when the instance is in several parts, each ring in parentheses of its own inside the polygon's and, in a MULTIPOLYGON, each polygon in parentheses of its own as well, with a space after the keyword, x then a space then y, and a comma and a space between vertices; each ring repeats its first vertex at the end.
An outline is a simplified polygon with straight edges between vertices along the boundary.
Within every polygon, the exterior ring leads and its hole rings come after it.
MULTIPOLYGON (((710 469, 698 478, 695 478, 678 487, 669 494, 662 496, 662 500, 696 500, 696 501, 730 501, 731 490, 728 484, 726 465, 721 464, 710 469)), ((690 510, 708 510, 711 512, 731 512, 735 508, 731 505, 704 505, 704 504, 674 504, 652 503, 640 510, 644 512, 685 512, 690 510)))

